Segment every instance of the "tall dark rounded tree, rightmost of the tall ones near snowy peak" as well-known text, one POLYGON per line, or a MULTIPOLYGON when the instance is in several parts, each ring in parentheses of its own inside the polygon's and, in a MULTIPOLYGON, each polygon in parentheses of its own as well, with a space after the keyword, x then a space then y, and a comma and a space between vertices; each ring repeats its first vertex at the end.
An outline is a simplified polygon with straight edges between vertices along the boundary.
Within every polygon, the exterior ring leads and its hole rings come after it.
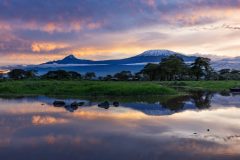
POLYGON ((198 57, 195 62, 191 64, 192 74, 199 80, 202 76, 205 79, 209 78, 209 75, 212 72, 212 68, 210 66, 211 60, 209 58, 198 57))

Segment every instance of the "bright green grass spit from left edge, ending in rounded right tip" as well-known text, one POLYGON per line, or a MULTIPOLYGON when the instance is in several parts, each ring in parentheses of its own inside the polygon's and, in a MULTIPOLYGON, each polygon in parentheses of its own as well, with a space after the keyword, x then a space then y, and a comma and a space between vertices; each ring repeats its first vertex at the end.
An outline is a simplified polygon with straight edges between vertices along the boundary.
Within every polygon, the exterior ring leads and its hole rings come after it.
POLYGON ((152 82, 3 81, 2 95, 137 96, 175 95, 173 88, 152 82))

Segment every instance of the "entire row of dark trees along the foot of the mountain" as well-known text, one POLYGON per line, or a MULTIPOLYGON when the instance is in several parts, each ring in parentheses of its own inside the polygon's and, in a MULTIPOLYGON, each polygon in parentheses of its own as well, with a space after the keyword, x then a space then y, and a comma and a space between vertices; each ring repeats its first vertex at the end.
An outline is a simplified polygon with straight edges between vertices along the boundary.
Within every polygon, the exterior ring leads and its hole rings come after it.
POLYGON ((187 64, 184 60, 172 55, 163 58, 159 64, 147 64, 140 72, 122 71, 114 75, 97 77, 94 72, 80 74, 74 71, 49 71, 37 76, 36 71, 14 69, 8 73, 9 79, 55 79, 55 80, 102 80, 102 81, 176 81, 176 80, 240 80, 239 70, 222 69, 215 71, 211 67, 211 60, 198 57, 187 64))

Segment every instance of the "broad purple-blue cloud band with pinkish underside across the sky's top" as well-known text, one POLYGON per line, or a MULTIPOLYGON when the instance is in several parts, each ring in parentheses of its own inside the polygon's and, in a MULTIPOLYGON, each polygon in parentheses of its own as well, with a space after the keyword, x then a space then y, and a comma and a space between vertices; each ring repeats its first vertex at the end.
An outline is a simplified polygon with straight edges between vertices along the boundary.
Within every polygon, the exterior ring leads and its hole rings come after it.
POLYGON ((173 19, 182 25, 207 23, 210 19, 214 21, 214 17, 210 18, 202 10, 238 6, 238 0, 9 0, 0 4, 0 19, 20 26, 25 23, 31 29, 50 33, 99 28, 120 30, 139 25, 171 24, 173 19))

